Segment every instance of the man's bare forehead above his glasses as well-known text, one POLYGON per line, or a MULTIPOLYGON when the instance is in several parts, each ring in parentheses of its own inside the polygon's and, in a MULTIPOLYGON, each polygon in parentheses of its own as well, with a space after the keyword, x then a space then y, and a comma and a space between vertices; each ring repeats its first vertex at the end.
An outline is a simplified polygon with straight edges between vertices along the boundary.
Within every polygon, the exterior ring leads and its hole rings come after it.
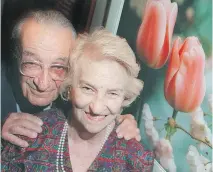
POLYGON ((23 51, 34 53, 51 52, 68 57, 75 43, 72 30, 54 24, 41 24, 28 19, 21 29, 23 51))

